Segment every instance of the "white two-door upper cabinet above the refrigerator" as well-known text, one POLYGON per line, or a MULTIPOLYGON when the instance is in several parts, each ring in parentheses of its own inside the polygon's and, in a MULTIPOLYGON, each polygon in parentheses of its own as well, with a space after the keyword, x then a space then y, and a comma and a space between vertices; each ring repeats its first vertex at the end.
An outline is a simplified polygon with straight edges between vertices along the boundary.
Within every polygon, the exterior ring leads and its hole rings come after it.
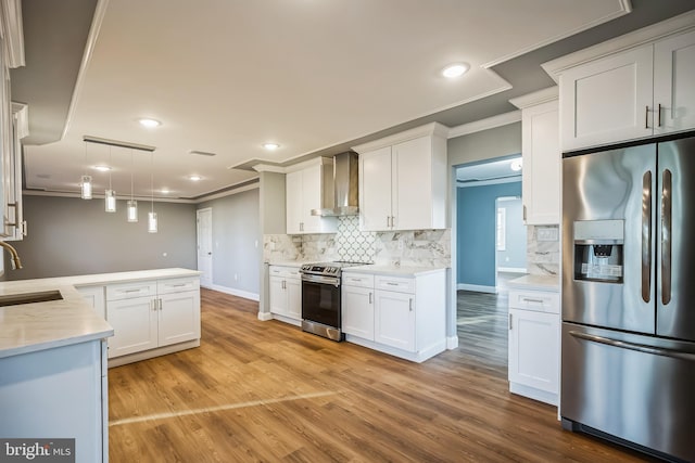
POLYGON ((695 128, 695 13, 543 67, 560 86, 563 151, 695 128))

